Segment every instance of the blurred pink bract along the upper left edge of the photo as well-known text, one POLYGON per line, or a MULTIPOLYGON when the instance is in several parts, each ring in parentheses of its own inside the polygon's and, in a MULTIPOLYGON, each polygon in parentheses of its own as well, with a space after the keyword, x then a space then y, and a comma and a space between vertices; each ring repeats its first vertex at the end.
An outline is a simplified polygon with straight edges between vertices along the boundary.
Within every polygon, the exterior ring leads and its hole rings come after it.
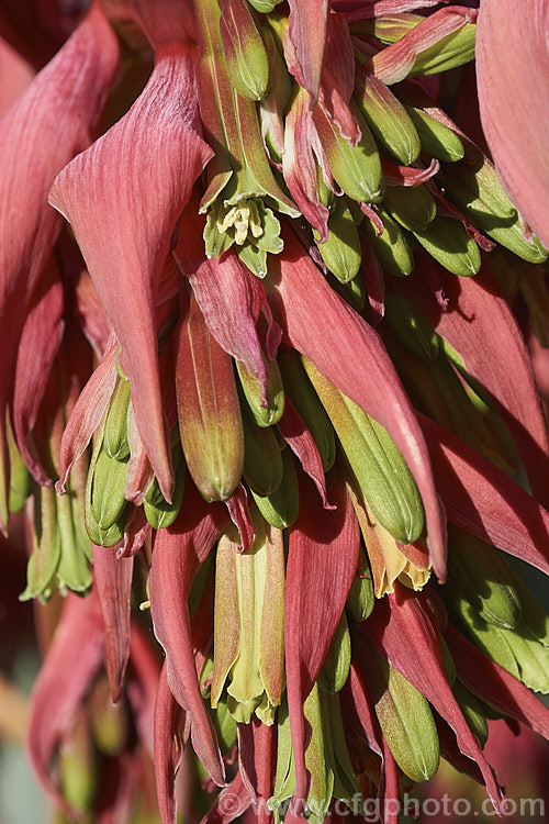
MULTIPOLYGON (((47 192, 65 164, 91 143, 117 58, 116 40, 97 0, 0 121, 0 472, 8 486, 4 420, 14 356, 61 225, 47 205, 47 192)), ((5 521, 2 501, 2 528, 5 521)))

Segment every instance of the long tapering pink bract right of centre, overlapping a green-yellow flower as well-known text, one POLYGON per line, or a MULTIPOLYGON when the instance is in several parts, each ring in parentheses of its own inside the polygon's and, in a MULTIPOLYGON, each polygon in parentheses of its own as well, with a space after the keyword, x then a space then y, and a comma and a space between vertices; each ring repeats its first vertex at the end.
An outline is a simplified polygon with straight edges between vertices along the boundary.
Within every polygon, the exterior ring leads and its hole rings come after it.
POLYGON ((355 403, 386 427, 422 493, 433 564, 445 579, 445 519, 427 449, 391 359, 372 327, 328 287, 291 231, 269 298, 289 341, 355 403), (357 364, 349 357, 361 353, 357 364))

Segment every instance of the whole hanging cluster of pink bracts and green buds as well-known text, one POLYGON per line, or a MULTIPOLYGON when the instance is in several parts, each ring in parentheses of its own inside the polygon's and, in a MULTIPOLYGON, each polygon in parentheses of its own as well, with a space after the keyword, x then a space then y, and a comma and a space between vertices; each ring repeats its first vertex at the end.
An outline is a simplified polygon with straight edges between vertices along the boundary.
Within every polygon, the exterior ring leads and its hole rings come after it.
POLYGON ((448 113, 482 10, 81 5, 0 120, 0 524, 21 598, 64 597, 38 779, 61 817, 175 824, 184 758, 205 822, 322 824, 442 757, 497 809, 486 719, 549 738, 549 617, 503 554, 549 574, 517 320, 547 344, 549 294, 448 113))

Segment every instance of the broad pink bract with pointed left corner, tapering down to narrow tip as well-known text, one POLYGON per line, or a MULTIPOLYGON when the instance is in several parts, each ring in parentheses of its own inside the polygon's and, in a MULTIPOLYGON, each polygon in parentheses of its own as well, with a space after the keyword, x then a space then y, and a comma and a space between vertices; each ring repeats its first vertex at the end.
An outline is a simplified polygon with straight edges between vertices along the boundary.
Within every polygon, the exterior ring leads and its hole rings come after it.
POLYGON ((64 169, 49 193, 72 225, 120 341, 137 427, 167 499, 172 478, 158 379, 156 285, 176 220, 212 157, 197 131, 194 63, 189 46, 159 52, 130 112, 64 169))

